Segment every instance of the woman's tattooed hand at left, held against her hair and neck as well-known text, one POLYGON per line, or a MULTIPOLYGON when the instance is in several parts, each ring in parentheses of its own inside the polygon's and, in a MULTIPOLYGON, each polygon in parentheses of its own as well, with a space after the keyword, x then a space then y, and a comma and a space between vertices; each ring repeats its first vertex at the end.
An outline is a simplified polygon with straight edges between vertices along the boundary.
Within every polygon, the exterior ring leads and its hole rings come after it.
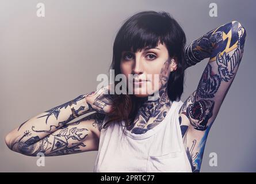
POLYGON ((109 114, 111 110, 113 110, 113 98, 112 95, 110 95, 110 85, 86 94, 85 98, 89 108, 98 113, 109 114))

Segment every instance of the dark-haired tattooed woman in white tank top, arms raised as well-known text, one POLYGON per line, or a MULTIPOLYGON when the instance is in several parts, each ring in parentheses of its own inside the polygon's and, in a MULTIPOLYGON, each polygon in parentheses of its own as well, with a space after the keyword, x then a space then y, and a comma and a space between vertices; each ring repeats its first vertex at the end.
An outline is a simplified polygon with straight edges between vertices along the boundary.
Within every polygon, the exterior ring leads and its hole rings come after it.
POLYGON ((22 123, 6 135, 6 144, 29 156, 98 150, 95 172, 198 172, 245 39, 246 30, 232 21, 185 48, 185 33, 168 13, 137 13, 117 33, 110 67, 132 83, 132 94, 109 94, 105 86, 79 95, 22 123), (208 57, 196 90, 182 102, 186 68, 208 57), (132 82, 131 74, 136 75, 132 82), (149 98, 156 91, 159 95, 149 98))

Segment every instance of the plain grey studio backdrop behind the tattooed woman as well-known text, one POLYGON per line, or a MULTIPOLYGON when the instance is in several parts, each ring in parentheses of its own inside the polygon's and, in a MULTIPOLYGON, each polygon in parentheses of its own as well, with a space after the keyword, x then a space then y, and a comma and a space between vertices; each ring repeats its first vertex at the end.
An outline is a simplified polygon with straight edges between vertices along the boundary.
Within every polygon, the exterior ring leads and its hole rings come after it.
MULTIPOLYGON (((182 26, 187 44, 209 30, 237 20, 247 30, 244 55, 209 132, 201 172, 256 171, 255 6, 251 1, 0 1, 0 171, 92 172, 97 151, 37 158, 10 151, 6 133, 22 122, 78 95, 94 91, 108 74, 112 46, 123 21, 143 10, 168 11, 182 26), (43 2, 45 17, 36 16, 43 2), (209 17, 209 4, 218 17, 209 17), (209 166, 216 152, 217 167, 209 166)), ((184 102, 197 87, 208 60, 186 74, 184 102)))

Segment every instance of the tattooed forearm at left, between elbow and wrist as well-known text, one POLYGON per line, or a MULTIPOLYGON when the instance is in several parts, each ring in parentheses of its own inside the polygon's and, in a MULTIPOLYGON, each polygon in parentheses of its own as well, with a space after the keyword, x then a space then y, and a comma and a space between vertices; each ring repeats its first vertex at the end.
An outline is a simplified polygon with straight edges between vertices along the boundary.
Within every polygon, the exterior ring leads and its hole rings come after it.
MULTIPOLYGON (((87 105, 85 95, 79 95, 79 97, 65 104, 40 113, 22 123, 20 127, 14 129, 6 136, 9 137, 6 138, 6 144, 11 150, 30 155, 33 150, 36 149, 35 146, 38 145, 35 143, 53 137, 53 135, 51 135, 47 138, 52 132, 67 125, 68 122, 89 112, 93 112, 93 109, 87 105)), ((79 131, 73 129, 73 131, 86 132, 85 129, 79 131)), ((68 133, 69 131, 65 133, 65 135, 68 135, 68 133)), ((63 133, 61 135, 63 135, 63 133)), ((59 143, 61 142, 59 141, 59 143)))

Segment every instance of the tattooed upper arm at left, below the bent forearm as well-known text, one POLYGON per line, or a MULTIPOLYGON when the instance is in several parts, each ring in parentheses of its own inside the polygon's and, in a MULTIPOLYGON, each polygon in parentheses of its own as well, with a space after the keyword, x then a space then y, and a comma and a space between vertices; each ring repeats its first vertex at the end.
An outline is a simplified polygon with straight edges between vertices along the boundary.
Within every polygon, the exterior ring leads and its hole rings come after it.
POLYGON ((39 152, 44 156, 56 156, 96 151, 104 117, 105 114, 90 114, 81 120, 63 125, 36 143, 30 143, 30 139, 25 142, 18 141, 12 145, 12 150, 28 156, 36 156, 39 152))

